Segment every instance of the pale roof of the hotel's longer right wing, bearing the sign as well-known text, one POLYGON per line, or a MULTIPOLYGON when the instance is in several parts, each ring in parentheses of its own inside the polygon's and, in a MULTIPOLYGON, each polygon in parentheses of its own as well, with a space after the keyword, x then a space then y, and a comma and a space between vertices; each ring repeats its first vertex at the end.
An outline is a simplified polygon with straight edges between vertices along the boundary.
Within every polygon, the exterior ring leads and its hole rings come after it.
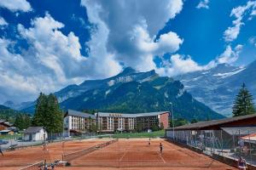
POLYGON ((148 112, 148 113, 105 113, 98 112, 98 116, 119 116, 119 117, 143 117, 143 116, 158 116, 164 113, 169 113, 169 111, 158 111, 158 112, 148 112))

